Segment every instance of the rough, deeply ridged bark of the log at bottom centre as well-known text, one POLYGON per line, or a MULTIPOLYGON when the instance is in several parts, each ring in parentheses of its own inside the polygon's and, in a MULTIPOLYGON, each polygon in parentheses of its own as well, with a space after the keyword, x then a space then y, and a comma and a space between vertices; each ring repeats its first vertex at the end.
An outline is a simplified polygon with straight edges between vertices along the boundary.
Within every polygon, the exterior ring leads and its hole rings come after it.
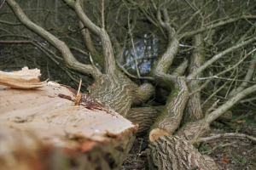
POLYGON ((217 170, 210 157, 201 156, 188 141, 177 136, 162 136, 149 144, 146 150, 148 169, 156 170, 217 170))

